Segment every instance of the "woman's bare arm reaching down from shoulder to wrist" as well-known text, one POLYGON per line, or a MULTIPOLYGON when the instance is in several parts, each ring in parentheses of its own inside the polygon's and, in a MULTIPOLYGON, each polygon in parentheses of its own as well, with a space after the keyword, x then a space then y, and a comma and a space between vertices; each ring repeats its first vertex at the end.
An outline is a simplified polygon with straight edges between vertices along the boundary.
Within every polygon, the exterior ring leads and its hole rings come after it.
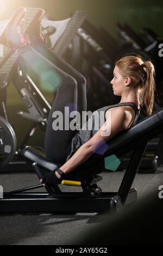
MULTIPOLYGON (((71 172, 73 169, 78 167, 80 164, 85 162, 89 157, 96 153, 96 150, 102 143, 108 141, 110 138, 114 137, 118 132, 126 128, 126 112, 122 108, 111 109, 111 121, 106 116, 106 121, 104 125, 99 129, 96 134, 85 144, 80 147, 76 153, 60 167, 62 172, 65 174, 71 172), (109 121, 108 121, 109 120, 109 121), (109 132, 110 131, 110 132, 109 132), (109 134, 110 133, 110 134, 109 134)), ((60 178, 60 175, 55 172, 55 175, 60 178)))

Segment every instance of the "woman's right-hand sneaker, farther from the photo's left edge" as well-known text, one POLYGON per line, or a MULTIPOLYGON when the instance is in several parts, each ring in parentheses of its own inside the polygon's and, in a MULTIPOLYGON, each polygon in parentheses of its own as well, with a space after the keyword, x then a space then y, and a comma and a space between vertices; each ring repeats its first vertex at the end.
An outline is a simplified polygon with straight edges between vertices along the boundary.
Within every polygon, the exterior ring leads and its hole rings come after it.
POLYGON ((33 21, 30 23, 29 28, 26 33, 29 36, 31 42, 35 42, 38 39, 47 44, 45 35, 42 34, 42 17, 45 14, 45 10, 41 9, 34 17, 33 21))

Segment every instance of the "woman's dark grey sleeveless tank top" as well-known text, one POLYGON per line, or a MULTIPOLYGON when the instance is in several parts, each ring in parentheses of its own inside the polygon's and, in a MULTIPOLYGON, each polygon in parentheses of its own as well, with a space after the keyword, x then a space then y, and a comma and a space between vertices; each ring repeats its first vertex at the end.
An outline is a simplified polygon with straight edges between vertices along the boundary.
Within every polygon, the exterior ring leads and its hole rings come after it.
POLYGON ((136 124, 141 109, 137 108, 134 102, 118 103, 115 105, 105 106, 97 109, 92 113, 89 120, 82 125, 81 130, 77 131, 76 135, 72 138, 70 144, 70 154, 68 154, 67 156, 67 161, 84 143, 89 141, 89 139, 92 138, 95 133, 100 129, 100 127, 105 123, 106 111, 108 111, 109 108, 120 106, 131 106, 134 108, 135 118, 133 120, 133 123, 131 123, 130 127, 136 124))

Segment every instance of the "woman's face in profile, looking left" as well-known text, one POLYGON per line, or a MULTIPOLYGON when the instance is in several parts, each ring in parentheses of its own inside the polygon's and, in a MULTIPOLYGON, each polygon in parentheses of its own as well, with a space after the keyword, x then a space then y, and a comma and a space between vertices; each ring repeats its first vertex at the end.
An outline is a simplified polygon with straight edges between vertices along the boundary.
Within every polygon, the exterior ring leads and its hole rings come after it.
POLYGON ((114 68, 114 77, 111 80, 111 85, 112 85, 112 89, 113 89, 113 93, 114 95, 117 96, 121 96, 122 95, 122 91, 124 90, 124 88, 126 88, 125 82, 126 82, 126 78, 124 78, 121 73, 120 73, 120 69, 118 69, 117 66, 115 66, 114 68))

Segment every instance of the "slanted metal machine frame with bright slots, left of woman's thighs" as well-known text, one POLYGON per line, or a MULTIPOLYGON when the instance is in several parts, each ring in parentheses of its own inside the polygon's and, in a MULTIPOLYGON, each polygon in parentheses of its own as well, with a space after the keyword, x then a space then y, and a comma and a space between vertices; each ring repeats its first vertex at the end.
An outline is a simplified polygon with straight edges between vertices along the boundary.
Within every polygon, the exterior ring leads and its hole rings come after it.
MULTIPOLYGON (((48 101, 42 95, 40 90, 36 87, 32 78, 30 78, 30 76, 26 72, 26 66, 23 65, 23 62, 21 64, 21 68, 18 65, 14 66, 14 70, 12 72, 12 82, 14 82, 14 86, 17 89, 17 92, 20 94, 22 101, 26 106, 28 112, 23 112, 20 110, 17 114, 21 118, 25 118, 32 121, 32 124, 29 126, 29 129, 26 135, 24 136, 21 144, 19 144, 18 148, 15 150, 15 154, 12 161, 10 161, 9 165, 3 169, 3 172, 13 172, 13 166, 17 172, 22 170, 29 171, 29 167, 23 161, 22 156, 20 154, 21 150, 24 148, 25 145, 27 145, 29 138, 34 136, 37 126, 40 127, 42 131, 46 130, 48 114, 51 109, 51 105, 49 105, 48 101)), ((4 89, 6 90, 6 87, 4 89)), ((1 89, 2 92, 3 90, 1 89)), ((3 106, 3 113, 7 115, 7 111, 5 110, 5 99, 1 101, 1 103, 3 106)))

